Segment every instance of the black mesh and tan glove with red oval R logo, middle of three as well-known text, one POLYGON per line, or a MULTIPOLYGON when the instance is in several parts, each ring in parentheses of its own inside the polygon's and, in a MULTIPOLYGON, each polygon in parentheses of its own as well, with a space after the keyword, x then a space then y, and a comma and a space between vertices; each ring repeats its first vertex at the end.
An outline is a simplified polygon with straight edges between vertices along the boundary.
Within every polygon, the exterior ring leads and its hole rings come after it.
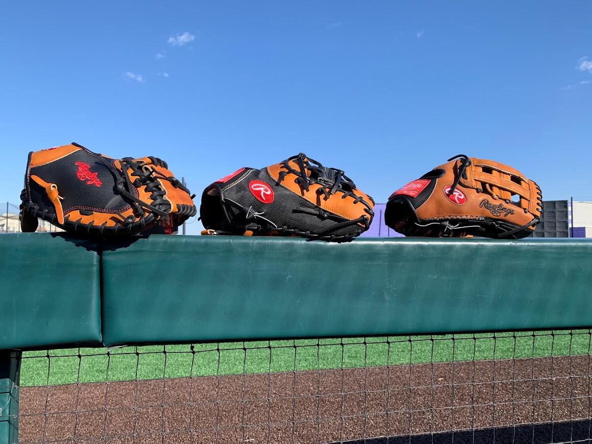
POLYGON ((374 201, 343 171, 303 153, 263 169, 241 168, 208 186, 202 234, 344 241, 368 230, 374 201))

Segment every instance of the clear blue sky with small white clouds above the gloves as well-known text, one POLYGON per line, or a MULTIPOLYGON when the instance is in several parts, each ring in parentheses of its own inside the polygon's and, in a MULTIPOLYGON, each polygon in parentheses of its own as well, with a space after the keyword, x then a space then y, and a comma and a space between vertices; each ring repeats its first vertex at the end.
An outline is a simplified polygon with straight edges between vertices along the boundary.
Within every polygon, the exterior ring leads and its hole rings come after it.
MULTIPOLYGON (((298 152, 378 202, 459 153, 592 195, 592 2, 5 1, 0 202, 76 141, 210 182, 298 152)), ((201 229, 188 225, 189 234, 201 229)))

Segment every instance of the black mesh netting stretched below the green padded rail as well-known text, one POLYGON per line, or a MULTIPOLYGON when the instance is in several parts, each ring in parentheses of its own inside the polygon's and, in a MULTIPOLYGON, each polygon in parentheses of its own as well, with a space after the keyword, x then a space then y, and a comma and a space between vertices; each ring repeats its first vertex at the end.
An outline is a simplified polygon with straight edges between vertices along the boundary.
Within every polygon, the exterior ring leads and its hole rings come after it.
POLYGON ((21 443, 575 443, 590 330, 25 352, 21 443))

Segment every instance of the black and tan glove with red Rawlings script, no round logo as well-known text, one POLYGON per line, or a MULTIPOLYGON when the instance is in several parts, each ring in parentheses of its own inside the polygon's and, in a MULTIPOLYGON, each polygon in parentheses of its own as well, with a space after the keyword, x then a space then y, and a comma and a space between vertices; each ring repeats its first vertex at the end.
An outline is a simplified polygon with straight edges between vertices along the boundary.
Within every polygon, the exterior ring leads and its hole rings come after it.
POLYGON ((197 214, 192 198, 157 157, 111 159, 72 143, 29 153, 21 227, 35 231, 41 218, 86 234, 132 234, 157 224, 170 234, 197 214))

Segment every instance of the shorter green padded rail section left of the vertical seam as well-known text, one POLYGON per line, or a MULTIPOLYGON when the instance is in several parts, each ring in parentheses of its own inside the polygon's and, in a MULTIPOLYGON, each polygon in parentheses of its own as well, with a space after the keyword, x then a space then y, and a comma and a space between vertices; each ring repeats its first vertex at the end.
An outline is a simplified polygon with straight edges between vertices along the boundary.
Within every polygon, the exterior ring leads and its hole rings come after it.
POLYGON ((101 342, 96 243, 0 235, 0 350, 101 342))

